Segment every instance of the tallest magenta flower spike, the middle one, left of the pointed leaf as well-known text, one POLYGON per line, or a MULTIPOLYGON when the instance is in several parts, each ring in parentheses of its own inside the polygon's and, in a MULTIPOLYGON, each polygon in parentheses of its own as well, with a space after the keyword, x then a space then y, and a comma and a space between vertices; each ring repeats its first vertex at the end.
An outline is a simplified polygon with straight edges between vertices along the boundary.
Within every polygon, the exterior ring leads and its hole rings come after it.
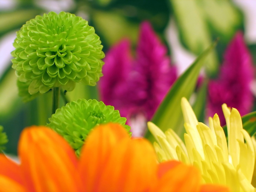
POLYGON ((176 68, 171 67, 166 46, 159 41, 148 22, 143 22, 140 27, 136 53, 129 80, 129 89, 134 90, 135 95, 128 98, 136 105, 135 109, 145 113, 146 119, 150 120, 176 80, 176 68))

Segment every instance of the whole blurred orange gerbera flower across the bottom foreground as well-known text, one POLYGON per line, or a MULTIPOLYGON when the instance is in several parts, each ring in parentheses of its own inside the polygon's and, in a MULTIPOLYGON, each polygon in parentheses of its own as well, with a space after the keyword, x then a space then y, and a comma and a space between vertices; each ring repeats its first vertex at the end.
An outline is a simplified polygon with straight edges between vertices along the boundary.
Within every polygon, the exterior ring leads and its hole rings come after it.
POLYGON ((177 161, 157 163, 151 144, 130 139, 118 124, 89 134, 80 159, 46 127, 26 128, 18 147, 20 164, 0 156, 0 191, 15 192, 227 192, 201 185, 200 173, 177 161))

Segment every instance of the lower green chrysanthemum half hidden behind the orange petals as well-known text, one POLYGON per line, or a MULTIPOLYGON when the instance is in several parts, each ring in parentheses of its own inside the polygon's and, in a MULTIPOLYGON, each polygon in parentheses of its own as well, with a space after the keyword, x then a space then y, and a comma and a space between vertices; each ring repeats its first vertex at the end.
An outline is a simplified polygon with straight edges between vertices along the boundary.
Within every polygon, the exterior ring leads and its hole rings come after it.
POLYGON ((130 130, 130 127, 125 125, 126 118, 120 117, 118 110, 95 99, 72 101, 57 109, 49 121, 47 126, 62 135, 76 150, 77 155, 80 154, 88 133, 96 125, 114 122, 123 125, 127 131, 130 130))

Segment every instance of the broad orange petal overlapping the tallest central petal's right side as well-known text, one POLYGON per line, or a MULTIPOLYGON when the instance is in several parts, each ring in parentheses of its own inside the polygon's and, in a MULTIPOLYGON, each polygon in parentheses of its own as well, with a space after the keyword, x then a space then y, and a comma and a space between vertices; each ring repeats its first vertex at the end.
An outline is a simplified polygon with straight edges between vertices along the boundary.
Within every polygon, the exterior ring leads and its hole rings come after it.
POLYGON ((157 157, 145 139, 124 139, 110 152, 97 191, 149 191, 157 181, 157 157))

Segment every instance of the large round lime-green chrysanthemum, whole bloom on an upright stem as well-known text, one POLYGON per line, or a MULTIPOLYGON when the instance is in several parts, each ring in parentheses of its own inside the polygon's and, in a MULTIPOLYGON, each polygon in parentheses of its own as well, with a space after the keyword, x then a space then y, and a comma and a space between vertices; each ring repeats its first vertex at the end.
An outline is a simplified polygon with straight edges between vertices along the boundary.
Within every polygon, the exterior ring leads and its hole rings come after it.
POLYGON ((17 32, 12 67, 29 93, 53 87, 71 91, 76 82, 95 85, 102 76, 101 41, 88 22, 74 14, 50 12, 26 22, 17 32))

